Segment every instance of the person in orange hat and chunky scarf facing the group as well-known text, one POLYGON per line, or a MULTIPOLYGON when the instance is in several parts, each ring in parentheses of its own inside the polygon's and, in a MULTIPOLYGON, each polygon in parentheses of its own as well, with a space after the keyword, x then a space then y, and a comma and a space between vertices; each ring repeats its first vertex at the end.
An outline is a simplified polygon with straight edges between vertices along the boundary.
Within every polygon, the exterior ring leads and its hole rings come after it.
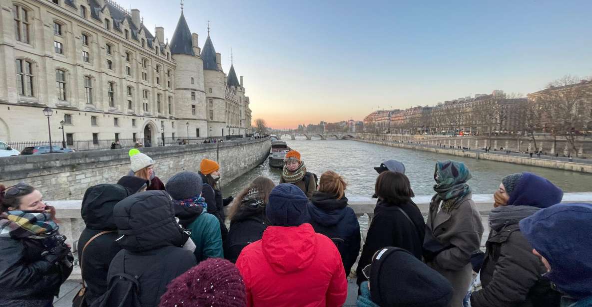
POLYGON ((286 154, 284 162, 285 165, 279 183, 297 186, 310 200, 314 192, 317 191, 316 175, 307 171, 304 161, 300 158, 300 152, 293 149, 286 154))

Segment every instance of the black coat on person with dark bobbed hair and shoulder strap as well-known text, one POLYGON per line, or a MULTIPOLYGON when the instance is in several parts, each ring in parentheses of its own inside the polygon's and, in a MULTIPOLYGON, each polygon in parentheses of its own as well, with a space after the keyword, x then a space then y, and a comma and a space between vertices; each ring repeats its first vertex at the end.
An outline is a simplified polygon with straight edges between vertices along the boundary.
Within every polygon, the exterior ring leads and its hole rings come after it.
POLYGON ((358 285, 366 280, 362 269, 370 264, 374 253, 382 247, 400 247, 422 260, 425 234, 426 223, 421 211, 413 201, 406 204, 391 204, 379 199, 374 207, 374 218, 368 227, 368 234, 366 234, 366 241, 356 270, 358 285), (399 208, 408 215, 413 224, 401 213, 399 208))

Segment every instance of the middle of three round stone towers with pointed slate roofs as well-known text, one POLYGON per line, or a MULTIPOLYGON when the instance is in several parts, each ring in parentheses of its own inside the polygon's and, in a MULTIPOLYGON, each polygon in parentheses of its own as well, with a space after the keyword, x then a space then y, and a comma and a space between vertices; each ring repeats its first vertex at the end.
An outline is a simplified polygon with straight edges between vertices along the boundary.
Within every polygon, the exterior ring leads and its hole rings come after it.
MULTIPOLYGON (((208 38, 205 40, 204 48, 201 51, 201 58, 204 61, 204 89, 206 117, 208 121, 208 133, 211 136, 221 137, 228 135, 226 126, 226 80, 222 70, 221 57, 216 53, 214 44, 210 38, 210 27, 208 25, 208 38)), ((209 134, 208 134, 209 136, 209 134)))

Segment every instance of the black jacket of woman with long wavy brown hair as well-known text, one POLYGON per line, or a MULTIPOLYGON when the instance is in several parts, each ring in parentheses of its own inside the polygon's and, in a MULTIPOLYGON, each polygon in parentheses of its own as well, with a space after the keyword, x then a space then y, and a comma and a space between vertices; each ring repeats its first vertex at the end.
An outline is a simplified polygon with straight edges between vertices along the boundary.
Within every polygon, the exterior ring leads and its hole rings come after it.
POLYGON ((245 201, 238 210, 230 220, 230 230, 224 241, 224 258, 232 263, 236 262, 245 246, 261 240, 263 231, 269 226, 262 201, 245 201))

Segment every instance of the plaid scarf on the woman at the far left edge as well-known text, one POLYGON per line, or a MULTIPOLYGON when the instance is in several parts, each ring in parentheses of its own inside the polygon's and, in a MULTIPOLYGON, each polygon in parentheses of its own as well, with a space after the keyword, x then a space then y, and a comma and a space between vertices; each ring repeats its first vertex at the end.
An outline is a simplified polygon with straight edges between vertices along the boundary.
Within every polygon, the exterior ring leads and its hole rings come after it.
POLYGON ((13 210, 0 214, 0 237, 44 239, 57 233, 59 226, 47 212, 13 210))

